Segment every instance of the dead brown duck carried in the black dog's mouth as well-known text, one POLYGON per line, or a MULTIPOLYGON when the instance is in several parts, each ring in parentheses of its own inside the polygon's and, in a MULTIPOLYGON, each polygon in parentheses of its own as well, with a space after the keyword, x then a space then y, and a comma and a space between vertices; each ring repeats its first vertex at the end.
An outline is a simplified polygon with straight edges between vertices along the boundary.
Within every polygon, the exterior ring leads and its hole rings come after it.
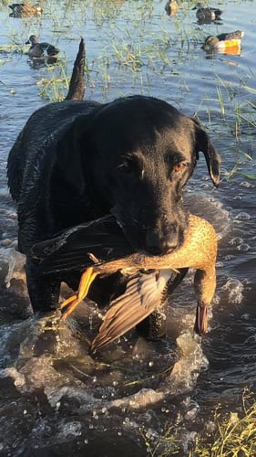
MULTIPOLYGON (((157 310, 173 271, 179 272, 179 269, 186 272, 189 268, 196 269, 194 287, 198 306, 195 330, 204 335, 207 307, 216 287, 217 244, 216 232, 210 223, 190 215, 185 240, 179 249, 161 256, 148 256, 134 252, 122 230, 118 230, 116 219, 110 216, 70 228, 54 239, 37 243, 32 253, 39 260, 44 274, 86 268, 78 292, 60 305, 61 310, 66 309, 62 319, 72 314, 77 304, 86 298, 98 275, 116 271, 128 274, 126 292, 112 302, 92 344, 93 351, 96 351, 157 310)), ((174 287, 179 282, 178 279, 174 287)))

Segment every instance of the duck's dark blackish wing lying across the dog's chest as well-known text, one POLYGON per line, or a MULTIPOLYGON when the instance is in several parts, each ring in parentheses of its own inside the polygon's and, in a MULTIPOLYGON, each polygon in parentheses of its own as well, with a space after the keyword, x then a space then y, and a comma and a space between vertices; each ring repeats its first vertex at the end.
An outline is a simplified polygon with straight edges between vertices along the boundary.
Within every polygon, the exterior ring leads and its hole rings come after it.
POLYGON ((42 274, 83 271, 97 260, 115 260, 131 252, 128 239, 114 216, 67 228, 31 249, 32 259, 42 274))

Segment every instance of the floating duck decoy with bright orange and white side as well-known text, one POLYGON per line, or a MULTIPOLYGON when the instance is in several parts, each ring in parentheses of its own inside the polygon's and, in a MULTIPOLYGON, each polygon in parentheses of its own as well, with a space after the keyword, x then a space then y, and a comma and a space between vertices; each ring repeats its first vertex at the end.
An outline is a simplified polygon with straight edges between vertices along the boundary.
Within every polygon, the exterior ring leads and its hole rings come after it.
POLYGON ((241 49, 241 38, 244 32, 236 30, 230 33, 221 33, 216 37, 207 37, 202 48, 205 51, 216 51, 227 54, 239 54, 241 49), (233 52, 234 51, 234 52, 233 52))

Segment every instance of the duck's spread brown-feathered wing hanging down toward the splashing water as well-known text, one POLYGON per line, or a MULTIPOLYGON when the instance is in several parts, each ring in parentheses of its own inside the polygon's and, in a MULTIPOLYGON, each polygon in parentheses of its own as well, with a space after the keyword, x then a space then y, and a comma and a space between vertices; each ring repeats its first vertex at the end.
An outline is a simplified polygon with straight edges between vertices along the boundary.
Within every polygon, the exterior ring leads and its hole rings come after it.
POLYGON ((92 342, 92 351, 108 345, 143 321, 162 303, 163 292, 172 275, 171 270, 138 272, 128 281, 126 292, 112 302, 99 332, 92 342))

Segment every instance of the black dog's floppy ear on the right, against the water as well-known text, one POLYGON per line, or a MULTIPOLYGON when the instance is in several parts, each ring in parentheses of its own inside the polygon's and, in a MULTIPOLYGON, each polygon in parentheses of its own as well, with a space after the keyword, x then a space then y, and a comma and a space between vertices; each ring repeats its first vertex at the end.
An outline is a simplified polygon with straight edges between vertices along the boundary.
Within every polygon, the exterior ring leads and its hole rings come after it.
POLYGON ((200 151, 204 154, 207 163, 210 179, 214 186, 218 187, 220 184, 220 155, 217 153, 213 144, 210 142, 210 137, 203 130, 200 122, 195 118, 191 118, 195 124, 196 140, 195 149, 197 159, 199 158, 200 151))

